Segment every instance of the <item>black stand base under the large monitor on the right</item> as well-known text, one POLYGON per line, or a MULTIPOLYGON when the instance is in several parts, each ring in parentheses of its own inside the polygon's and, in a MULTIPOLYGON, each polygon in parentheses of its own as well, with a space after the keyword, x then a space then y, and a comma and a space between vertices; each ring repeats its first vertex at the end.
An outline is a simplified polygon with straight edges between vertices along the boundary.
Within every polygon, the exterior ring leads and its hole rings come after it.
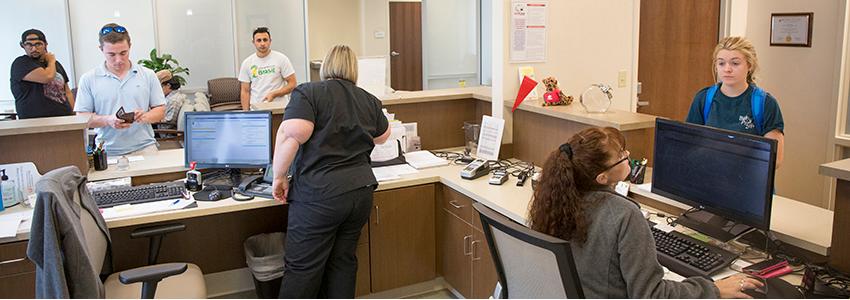
POLYGON ((699 231, 724 243, 752 228, 704 210, 683 213, 676 219, 676 224, 699 231))

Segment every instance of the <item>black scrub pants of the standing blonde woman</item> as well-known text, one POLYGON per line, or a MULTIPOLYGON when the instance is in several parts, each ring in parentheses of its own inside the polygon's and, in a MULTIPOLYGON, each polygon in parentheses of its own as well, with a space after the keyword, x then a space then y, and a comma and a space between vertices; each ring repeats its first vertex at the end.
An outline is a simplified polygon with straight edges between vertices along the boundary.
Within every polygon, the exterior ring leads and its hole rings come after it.
POLYGON ((357 240, 374 186, 289 203, 280 298, 354 298, 357 240))

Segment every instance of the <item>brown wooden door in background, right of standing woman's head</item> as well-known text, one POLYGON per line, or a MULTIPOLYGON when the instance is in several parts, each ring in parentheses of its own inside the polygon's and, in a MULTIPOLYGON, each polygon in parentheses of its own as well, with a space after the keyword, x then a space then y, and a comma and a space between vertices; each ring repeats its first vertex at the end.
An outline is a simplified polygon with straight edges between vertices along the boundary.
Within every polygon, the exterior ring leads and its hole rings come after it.
POLYGON ((422 90, 422 3, 390 2, 390 86, 422 90))

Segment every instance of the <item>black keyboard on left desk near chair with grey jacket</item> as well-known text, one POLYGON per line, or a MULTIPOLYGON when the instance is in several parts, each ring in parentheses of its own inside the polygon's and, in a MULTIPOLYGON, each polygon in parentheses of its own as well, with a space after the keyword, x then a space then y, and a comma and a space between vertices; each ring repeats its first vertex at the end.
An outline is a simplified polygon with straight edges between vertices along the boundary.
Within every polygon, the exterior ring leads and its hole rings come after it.
POLYGON ((138 204, 183 198, 186 187, 182 182, 168 182, 123 187, 92 192, 97 207, 107 208, 124 204, 138 204))

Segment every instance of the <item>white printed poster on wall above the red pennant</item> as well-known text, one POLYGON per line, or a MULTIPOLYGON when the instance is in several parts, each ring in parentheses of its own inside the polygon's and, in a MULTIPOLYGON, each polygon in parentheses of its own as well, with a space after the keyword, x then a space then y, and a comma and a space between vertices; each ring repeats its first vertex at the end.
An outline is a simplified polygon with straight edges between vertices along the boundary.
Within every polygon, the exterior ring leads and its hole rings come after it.
POLYGON ((511 62, 546 60, 548 0, 511 1, 511 62))

